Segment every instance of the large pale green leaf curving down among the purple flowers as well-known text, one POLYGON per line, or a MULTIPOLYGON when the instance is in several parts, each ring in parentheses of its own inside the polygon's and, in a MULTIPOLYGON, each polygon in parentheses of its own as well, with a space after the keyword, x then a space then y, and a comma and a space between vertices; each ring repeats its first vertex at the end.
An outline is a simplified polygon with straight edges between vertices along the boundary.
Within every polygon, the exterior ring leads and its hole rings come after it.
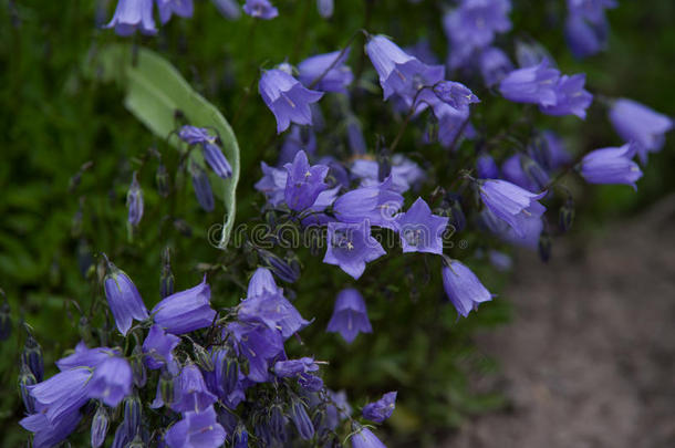
MULTIPOLYGON (((239 181, 239 145, 229 123, 218 110, 195 92, 180 73, 159 54, 131 45, 114 44, 100 49, 89 73, 104 81, 115 81, 126 91, 125 106, 158 137, 167 138, 176 128, 176 113, 180 111, 194 126, 211 127, 222 140, 222 149, 232 176, 221 179, 211 176, 216 196, 222 197, 226 217, 219 247, 225 249, 235 225, 237 183, 239 181)), ((177 137, 168 142, 185 150, 177 137)), ((204 160, 199 160, 204 163, 204 160)))

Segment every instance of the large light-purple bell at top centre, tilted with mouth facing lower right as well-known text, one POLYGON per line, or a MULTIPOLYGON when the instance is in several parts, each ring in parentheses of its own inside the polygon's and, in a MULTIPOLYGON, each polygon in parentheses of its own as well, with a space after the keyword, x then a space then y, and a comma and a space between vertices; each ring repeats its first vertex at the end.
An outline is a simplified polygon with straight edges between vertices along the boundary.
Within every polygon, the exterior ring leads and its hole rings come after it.
POLYGON ((384 35, 368 40, 365 51, 380 76, 384 100, 397 94, 409 107, 417 92, 443 81, 443 65, 427 65, 403 51, 384 35))

